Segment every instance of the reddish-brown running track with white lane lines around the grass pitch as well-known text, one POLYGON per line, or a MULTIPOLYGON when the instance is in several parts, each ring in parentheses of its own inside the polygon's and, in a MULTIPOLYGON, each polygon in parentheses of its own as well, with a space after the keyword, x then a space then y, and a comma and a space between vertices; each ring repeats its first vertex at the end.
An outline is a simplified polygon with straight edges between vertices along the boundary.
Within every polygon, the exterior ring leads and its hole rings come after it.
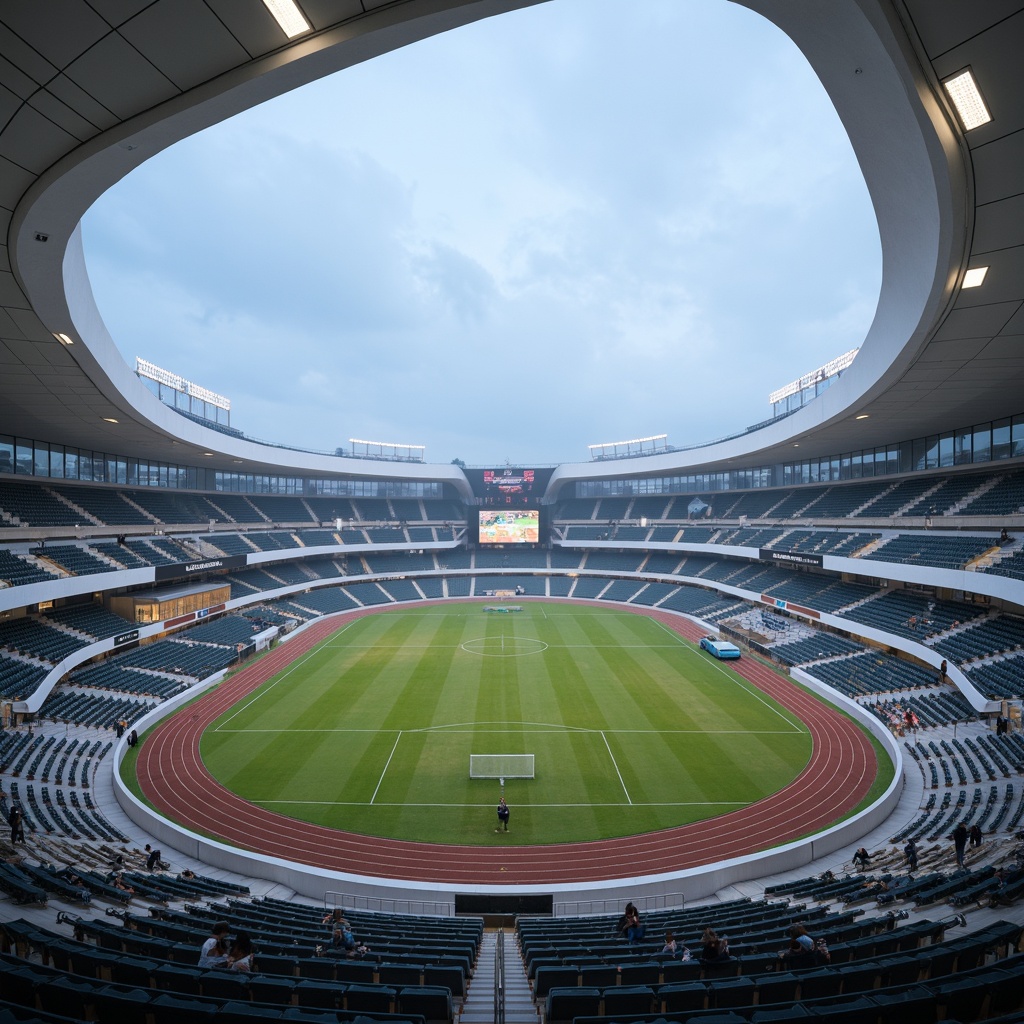
MULTIPOLYGON (((689 620, 656 610, 642 613, 689 640, 700 636, 689 620)), ((161 723, 139 748, 137 762, 139 783, 153 805, 186 828, 321 869, 420 883, 549 886, 677 871, 792 842, 849 813, 878 770, 874 749, 849 718, 756 658, 744 658, 730 669, 793 712, 813 739, 811 759, 800 775, 749 807, 641 836, 501 848, 377 839, 309 824, 256 807, 222 786, 203 765, 200 736, 224 711, 337 629, 337 616, 314 623, 161 723)))

